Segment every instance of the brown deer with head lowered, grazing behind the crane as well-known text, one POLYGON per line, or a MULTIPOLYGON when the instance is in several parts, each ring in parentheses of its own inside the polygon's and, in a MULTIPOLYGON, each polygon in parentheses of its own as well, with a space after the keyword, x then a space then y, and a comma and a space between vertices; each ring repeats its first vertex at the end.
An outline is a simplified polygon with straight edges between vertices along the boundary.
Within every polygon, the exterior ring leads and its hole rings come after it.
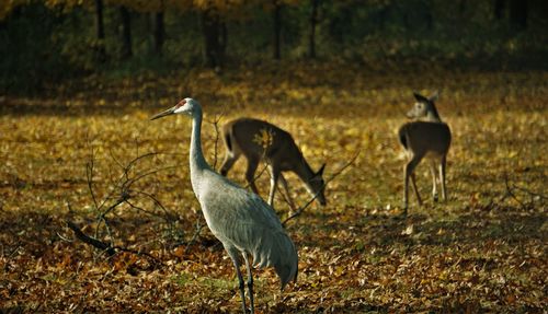
POLYGON ((302 156, 293 137, 287 131, 263 120, 252 118, 239 118, 227 123, 222 127, 222 135, 227 153, 220 167, 220 174, 226 176, 238 158, 243 154, 248 160, 246 179, 251 189, 259 194, 255 186, 255 171, 261 160, 269 165, 271 173, 271 190, 269 205, 274 203, 278 178, 289 197, 289 206, 294 208, 293 201, 282 172, 292 171, 305 183, 312 196, 316 196, 320 205, 326 205, 323 195, 324 182, 322 178, 323 164, 318 172, 313 172, 302 156))

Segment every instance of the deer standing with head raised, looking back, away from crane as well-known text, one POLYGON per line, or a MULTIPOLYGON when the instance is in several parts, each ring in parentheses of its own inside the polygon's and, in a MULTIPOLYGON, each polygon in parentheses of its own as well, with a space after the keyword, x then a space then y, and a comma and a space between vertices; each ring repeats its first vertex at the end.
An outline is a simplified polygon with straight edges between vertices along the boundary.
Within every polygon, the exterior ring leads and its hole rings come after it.
POLYGON ((419 93, 413 94, 416 103, 407 113, 407 117, 413 119, 413 121, 404 124, 398 131, 400 143, 409 155, 409 162, 404 166, 403 206, 406 213, 408 209, 409 177, 411 177, 419 206, 422 205, 413 171, 423 158, 430 160, 432 196, 434 200, 437 201, 437 182, 442 185, 443 199, 446 200, 447 198, 445 164, 450 146, 450 130, 439 118, 439 114, 434 105, 438 96, 437 92, 430 97, 425 97, 419 93), (439 177, 436 175, 436 166, 439 177))

